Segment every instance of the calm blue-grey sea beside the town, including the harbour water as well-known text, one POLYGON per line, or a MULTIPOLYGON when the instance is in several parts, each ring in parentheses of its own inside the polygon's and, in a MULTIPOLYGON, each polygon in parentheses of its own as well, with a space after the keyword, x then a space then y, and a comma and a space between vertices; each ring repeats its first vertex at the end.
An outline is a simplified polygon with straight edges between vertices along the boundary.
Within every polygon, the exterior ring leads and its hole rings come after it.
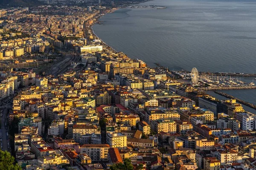
MULTIPOLYGON (((101 17, 101 24, 93 26, 94 33, 116 51, 142 59, 150 67, 159 63, 169 70, 195 67, 198 71, 256 74, 256 0, 141 4, 166 8, 120 8, 101 17)), ((255 89, 223 92, 256 104, 255 89)), ((246 111, 256 113, 250 108, 246 111)))

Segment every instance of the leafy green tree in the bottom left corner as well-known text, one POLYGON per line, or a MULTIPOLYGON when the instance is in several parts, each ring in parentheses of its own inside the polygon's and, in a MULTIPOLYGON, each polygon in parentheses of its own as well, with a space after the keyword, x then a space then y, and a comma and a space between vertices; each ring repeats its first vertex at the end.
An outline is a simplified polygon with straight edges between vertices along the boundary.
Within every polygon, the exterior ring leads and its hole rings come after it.
POLYGON ((0 150, 0 170, 22 170, 11 153, 0 150))

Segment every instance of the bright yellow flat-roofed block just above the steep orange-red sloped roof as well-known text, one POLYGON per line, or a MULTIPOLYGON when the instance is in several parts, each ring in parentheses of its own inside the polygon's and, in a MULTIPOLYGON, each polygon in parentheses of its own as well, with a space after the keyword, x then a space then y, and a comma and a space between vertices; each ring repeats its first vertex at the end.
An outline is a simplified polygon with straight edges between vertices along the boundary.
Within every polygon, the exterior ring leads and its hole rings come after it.
POLYGON ((107 143, 110 145, 110 147, 126 149, 127 136, 122 133, 107 133, 107 143))

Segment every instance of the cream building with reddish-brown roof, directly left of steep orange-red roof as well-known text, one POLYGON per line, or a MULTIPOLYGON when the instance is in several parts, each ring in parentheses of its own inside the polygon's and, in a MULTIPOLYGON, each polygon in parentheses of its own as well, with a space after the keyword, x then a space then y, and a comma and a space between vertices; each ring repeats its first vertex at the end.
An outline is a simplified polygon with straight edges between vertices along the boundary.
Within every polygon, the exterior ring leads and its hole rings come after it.
POLYGON ((80 153, 87 154, 92 161, 108 161, 109 148, 109 144, 83 144, 80 153))

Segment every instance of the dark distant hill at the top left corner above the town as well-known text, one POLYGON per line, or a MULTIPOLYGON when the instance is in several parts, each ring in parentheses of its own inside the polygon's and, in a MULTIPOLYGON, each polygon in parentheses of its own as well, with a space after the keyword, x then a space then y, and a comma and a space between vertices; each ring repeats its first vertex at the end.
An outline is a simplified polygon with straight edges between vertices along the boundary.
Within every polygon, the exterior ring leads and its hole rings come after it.
POLYGON ((44 5, 41 1, 38 0, 0 0, 1 7, 30 7, 30 6, 39 6, 44 5))

